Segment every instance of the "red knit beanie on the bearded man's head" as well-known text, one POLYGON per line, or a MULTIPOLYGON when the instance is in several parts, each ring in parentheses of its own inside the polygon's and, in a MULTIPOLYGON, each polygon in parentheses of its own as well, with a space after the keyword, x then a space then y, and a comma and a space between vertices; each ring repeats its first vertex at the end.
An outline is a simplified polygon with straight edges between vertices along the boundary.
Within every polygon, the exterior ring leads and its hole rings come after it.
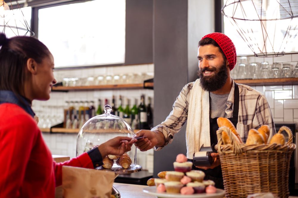
MULTIPOLYGON (((217 42, 221 50, 223 50, 224 55, 226 55, 226 58, 228 59, 230 70, 232 70, 235 67, 236 61, 237 61, 237 54, 236 54, 236 48, 232 40, 227 37, 223 33, 219 32, 213 32, 211 34, 207 34, 204 36, 204 38, 211 38, 217 42)), ((201 39, 201 40, 202 40, 201 39)))

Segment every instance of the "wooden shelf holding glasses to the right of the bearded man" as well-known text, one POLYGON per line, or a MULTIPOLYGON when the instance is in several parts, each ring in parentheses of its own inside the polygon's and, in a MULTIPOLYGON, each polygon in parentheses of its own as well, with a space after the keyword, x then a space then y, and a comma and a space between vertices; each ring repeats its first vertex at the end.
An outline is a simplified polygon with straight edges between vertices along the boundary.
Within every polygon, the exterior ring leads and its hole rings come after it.
POLYGON ((298 85, 298 78, 239 79, 234 81, 249 86, 298 85))

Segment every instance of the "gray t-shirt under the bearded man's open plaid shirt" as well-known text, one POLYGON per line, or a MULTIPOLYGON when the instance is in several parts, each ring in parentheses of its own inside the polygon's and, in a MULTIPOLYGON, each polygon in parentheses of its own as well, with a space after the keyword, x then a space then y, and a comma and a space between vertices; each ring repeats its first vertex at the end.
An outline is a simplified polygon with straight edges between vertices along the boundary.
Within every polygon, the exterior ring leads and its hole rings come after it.
POLYGON ((209 100, 210 100, 210 117, 218 118, 224 117, 226 118, 226 101, 228 100, 229 94, 212 94, 209 92, 209 100))

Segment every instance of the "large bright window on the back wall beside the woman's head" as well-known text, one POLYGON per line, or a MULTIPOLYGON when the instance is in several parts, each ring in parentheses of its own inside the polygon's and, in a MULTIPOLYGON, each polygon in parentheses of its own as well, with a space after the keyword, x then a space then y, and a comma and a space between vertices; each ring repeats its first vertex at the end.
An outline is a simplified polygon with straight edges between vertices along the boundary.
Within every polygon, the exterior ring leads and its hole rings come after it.
POLYGON ((125 62, 125 0, 94 0, 39 9, 38 39, 55 67, 125 62))

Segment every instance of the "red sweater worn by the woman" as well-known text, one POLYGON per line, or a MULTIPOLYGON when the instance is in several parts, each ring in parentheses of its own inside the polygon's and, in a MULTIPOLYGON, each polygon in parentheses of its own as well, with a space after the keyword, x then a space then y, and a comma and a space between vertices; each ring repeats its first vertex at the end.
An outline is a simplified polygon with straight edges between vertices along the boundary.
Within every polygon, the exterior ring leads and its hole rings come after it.
POLYGON ((35 120, 16 104, 0 104, 0 198, 54 197, 63 165, 94 168, 87 153, 55 163, 35 120))

